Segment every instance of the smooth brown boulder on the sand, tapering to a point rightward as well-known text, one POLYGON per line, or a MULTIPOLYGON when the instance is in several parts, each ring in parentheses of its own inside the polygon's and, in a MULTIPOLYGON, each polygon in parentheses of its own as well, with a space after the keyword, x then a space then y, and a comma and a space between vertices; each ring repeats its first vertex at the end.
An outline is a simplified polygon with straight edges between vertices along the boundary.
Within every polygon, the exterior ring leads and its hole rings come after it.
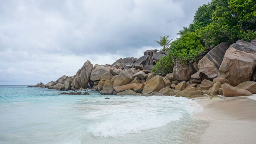
POLYGON ((229 84, 222 84, 221 88, 222 88, 223 95, 226 97, 253 95, 251 92, 247 91, 246 89, 238 89, 234 86, 230 86, 229 84))

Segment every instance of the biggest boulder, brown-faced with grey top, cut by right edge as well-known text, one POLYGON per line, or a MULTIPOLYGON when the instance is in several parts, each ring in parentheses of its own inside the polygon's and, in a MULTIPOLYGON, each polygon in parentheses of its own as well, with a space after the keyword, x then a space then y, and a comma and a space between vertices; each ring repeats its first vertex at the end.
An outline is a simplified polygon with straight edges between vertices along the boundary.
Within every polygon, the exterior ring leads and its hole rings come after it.
POLYGON ((256 65, 256 40, 237 42, 227 49, 219 68, 220 78, 226 78, 232 86, 249 81, 256 65))

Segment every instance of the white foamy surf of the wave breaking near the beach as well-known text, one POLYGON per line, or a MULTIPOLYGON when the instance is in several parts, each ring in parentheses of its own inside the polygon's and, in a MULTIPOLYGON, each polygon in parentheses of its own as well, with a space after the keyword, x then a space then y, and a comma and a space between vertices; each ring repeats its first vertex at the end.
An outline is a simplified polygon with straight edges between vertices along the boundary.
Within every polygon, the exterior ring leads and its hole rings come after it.
POLYGON ((180 120, 183 115, 193 115, 201 110, 202 107, 196 101, 187 98, 144 97, 137 103, 106 106, 104 110, 93 113, 94 118, 103 113, 108 116, 102 122, 90 125, 87 132, 96 137, 119 137, 163 127, 172 121, 180 120))

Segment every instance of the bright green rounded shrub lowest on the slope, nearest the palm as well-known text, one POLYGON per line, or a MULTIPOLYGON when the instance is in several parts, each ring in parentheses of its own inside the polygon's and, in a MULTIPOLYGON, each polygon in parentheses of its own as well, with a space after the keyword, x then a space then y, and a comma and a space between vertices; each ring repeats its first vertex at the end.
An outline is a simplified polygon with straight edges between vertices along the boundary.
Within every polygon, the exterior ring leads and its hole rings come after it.
POLYGON ((172 72, 177 63, 183 65, 197 60, 204 52, 204 46, 195 32, 186 32, 180 38, 173 41, 168 48, 169 52, 162 57, 152 71, 155 75, 166 75, 172 72))

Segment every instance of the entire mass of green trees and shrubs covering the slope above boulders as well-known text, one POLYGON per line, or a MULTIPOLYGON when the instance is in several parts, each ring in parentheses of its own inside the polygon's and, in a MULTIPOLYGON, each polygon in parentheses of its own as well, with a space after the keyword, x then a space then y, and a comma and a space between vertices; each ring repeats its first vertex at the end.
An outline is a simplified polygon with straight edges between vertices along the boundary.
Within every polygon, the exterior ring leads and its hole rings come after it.
POLYGON ((256 0, 212 0, 195 12, 193 23, 169 43, 168 55, 153 67, 155 74, 172 72, 175 63, 199 60, 221 42, 256 39, 256 0))

